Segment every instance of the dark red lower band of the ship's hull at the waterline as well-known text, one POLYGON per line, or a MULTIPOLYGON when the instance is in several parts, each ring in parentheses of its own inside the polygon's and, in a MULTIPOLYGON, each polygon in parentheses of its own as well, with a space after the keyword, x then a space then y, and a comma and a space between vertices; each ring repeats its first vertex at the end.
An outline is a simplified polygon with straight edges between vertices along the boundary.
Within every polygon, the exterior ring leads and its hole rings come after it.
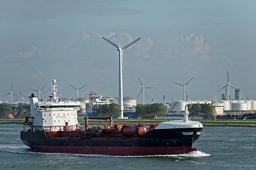
POLYGON ((73 154, 108 154, 114 156, 146 156, 184 154, 196 151, 192 147, 83 147, 83 146, 33 146, 42 152, 73 154))

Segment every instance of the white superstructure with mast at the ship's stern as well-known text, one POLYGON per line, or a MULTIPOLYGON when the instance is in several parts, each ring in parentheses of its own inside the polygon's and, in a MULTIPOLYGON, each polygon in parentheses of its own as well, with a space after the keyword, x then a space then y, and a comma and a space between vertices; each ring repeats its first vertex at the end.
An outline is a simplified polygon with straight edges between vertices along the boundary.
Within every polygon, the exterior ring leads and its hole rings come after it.
POLYGON ((80 102, 78 101, 59 101, 58 85, 53 79, 50 86, 50 100, 38 101, 38 97, 33 94, 30 97, 31 118, 33 126, 44 130, 62 130, 63 126, 69 126, 70 130, 78 127, 78 113, 80 102))

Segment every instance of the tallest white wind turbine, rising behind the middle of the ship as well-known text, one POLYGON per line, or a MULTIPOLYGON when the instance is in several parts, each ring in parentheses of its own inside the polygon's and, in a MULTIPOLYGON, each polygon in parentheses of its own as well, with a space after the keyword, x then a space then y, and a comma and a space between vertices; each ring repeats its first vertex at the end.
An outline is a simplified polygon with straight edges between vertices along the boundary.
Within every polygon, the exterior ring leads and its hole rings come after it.
POLYGON ((133 45, 135 42, 137 42, 141 38, 137 38, 136 40, 132 41, 128 45, 125 45, 124 47, 119 47, 119 45, 115 44, 114 42, 108 40, 107 38, 102 37, 99 35, 100 38, 106 40, 107 42, 110 42, 110 44, 114 45, 114 47, 117 48, 117 51, 119 51, 119 106, 121 109, 121 118, 124 118, 124 106, 123 106, 123 90, 122 90, 122 50, 127 49, 127 47, 133 45))

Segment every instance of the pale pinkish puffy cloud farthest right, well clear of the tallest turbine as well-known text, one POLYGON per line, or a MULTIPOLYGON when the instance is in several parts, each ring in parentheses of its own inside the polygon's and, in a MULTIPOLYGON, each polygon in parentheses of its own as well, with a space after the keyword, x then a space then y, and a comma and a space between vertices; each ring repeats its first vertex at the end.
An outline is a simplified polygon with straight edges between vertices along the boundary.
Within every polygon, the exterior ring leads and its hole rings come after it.
POLYGON ((182 52, 185 50, 188 55, 198 56, 200 60, 210 62, 210 45, 205 42, 203 35, 196 35, 191 33, 190 35, 181 37, 181 49, 182 52))

